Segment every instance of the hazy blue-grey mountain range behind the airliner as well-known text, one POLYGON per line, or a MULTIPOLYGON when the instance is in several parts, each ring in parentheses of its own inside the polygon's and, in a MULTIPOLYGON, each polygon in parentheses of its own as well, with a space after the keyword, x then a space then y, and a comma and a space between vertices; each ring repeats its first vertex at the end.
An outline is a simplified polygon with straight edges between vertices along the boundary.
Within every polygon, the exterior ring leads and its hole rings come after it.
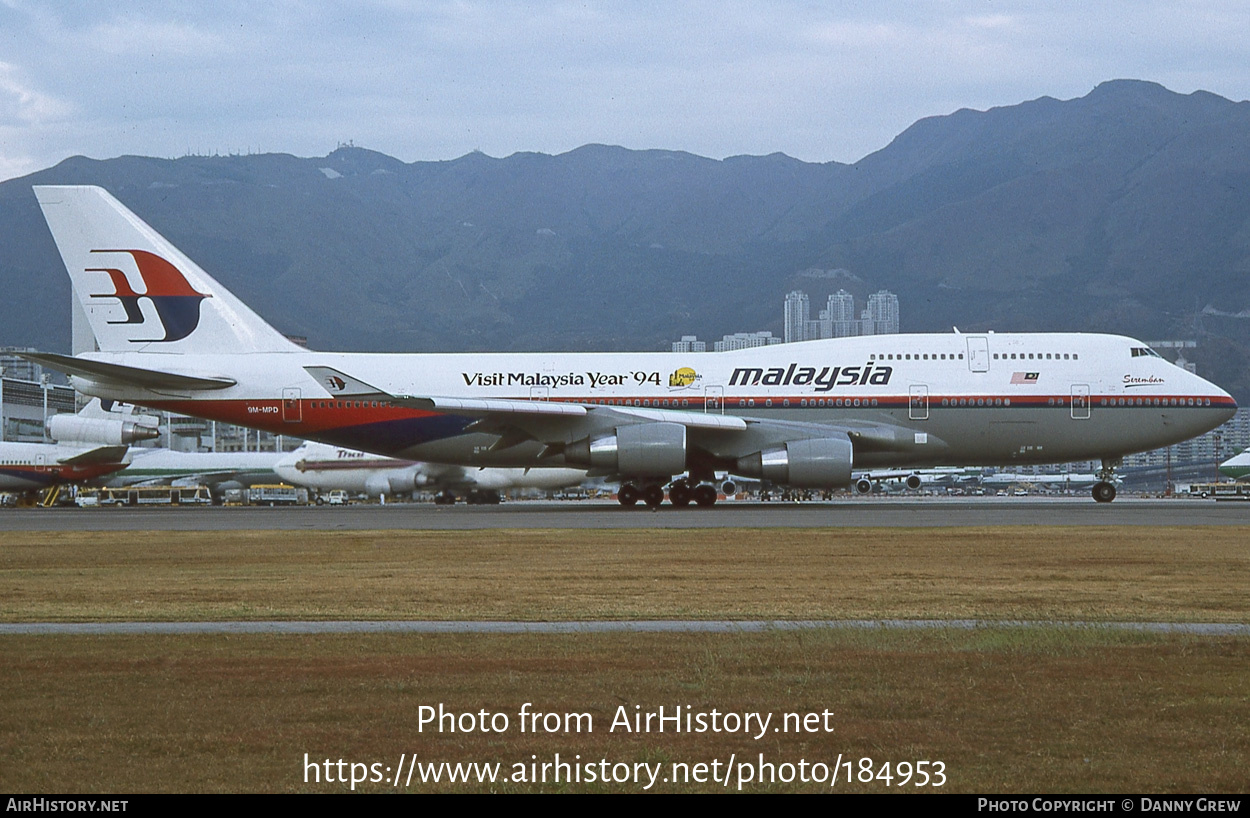
POLYGON ((780 334, 795 288, 814 309, 890 289, 904 331, 1198 339, 1199 371, 1250 400, 1250 103, 1205 91, 1115 80, 959 110, 850 165, 606 145, 74 156, 0 184, 0 344, 68 350, 35 184, 102 185, 318 349, 656 350, 780 334))

